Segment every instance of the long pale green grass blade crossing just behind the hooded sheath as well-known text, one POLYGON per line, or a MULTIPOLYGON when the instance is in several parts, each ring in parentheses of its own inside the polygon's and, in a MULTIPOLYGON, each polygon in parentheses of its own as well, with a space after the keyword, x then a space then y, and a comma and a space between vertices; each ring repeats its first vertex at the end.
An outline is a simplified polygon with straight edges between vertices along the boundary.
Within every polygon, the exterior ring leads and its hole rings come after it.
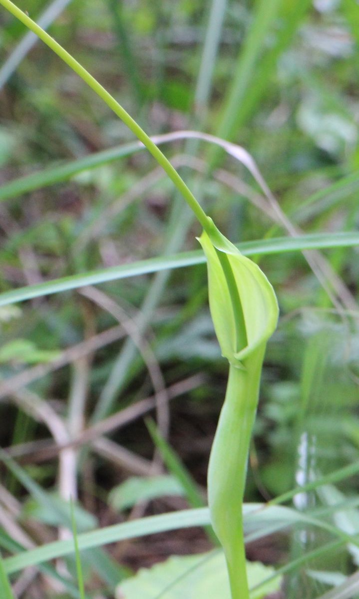
MULTIPOLYGON (((300 235, 298 237, 277 237, 258 241, 245 241, 236 247, 244 256, 255 254, 269 255, 281 252, 293 252, 306 249, 330 249, 331 247, 353 247, 359 245, 357 231, 344 233, 316 233, 300 235)), ((132 264, 123 264, 118 267, 102 268, 84 274, 76 274, 40 283, 28 285, 0 294, 0 306, 14 304, 35 297, 51 295, 62 291, 77 289, 86 285, 97 285, 109 281, 126 279, 143 274, 157 273, 173 268, 183 268, 196 264, 205 264, 206 258, 200 250, 182 252, 173 256, 149 258, 132 264)))

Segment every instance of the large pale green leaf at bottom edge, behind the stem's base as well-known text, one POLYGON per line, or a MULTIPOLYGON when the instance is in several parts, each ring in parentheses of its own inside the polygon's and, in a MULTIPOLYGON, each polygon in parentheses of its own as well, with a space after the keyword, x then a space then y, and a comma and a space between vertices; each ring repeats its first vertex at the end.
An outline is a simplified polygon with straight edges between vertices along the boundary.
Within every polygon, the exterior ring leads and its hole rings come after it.
MULTIPOLYGON (((256 587, 251 593, 251 599, 262 599, 267 594, 279 590, 280 577, 265 582, 267 577, 274 574, 274 568, 258 562, 247 562, 246 565, 249 585, 256 587)), ((116 592, 116 599, 139 597, 230 599, 224 554, 213 551, 200 555, 171 556, 162 564, 142 568, 136 576, 120 583, 116 592)))

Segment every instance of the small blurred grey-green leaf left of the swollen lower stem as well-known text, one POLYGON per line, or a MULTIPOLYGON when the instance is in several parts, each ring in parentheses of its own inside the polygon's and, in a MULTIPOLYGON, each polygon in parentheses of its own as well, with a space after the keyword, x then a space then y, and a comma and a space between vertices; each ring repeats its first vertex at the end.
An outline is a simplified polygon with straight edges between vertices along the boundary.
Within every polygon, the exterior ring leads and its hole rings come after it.
POLYGON ((168 495, 183 495, 182 485, 174 476, 133 476, 110 492, 109 501, 116 510, 126 510, 138 501, 148 501, 168 495))

